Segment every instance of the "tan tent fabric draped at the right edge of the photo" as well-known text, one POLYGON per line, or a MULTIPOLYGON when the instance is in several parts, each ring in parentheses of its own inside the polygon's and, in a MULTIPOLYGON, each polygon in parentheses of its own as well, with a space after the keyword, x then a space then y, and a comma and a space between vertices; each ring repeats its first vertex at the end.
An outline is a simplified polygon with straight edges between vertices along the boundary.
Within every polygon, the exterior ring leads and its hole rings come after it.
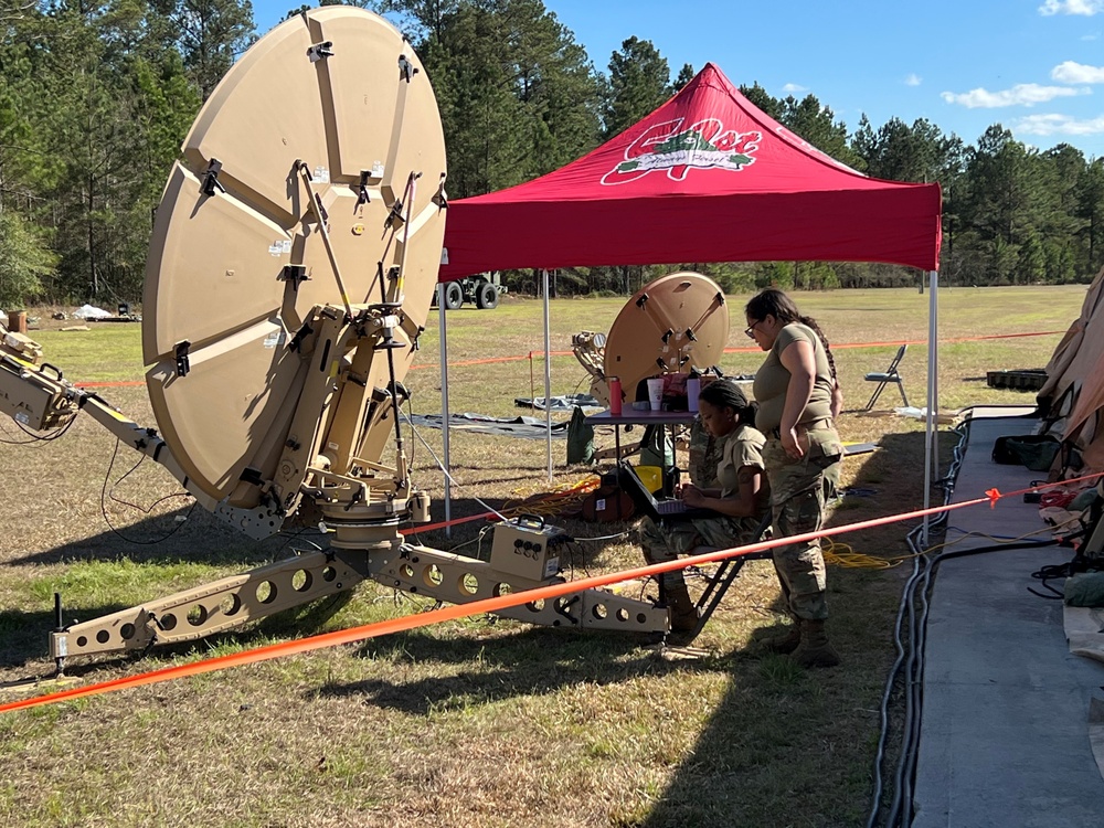
POLYGON ((1054 349, 1039 404, 1044 412, 1041 431, 1072 442, 1089 470, 1104 470, 1104 269, 1089 287, 1081 316, 1054 349))

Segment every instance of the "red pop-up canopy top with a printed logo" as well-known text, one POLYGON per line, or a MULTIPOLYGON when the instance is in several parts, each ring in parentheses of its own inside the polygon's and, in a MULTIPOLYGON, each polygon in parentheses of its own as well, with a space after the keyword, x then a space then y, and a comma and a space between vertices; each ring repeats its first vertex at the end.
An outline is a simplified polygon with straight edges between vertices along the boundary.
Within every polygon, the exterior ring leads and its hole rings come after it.
POLYGON ((868 178, 757 109, 712 63, 554 172, 448 206, 440 280, 680 262, 938 266, 940 185, 868 178))

